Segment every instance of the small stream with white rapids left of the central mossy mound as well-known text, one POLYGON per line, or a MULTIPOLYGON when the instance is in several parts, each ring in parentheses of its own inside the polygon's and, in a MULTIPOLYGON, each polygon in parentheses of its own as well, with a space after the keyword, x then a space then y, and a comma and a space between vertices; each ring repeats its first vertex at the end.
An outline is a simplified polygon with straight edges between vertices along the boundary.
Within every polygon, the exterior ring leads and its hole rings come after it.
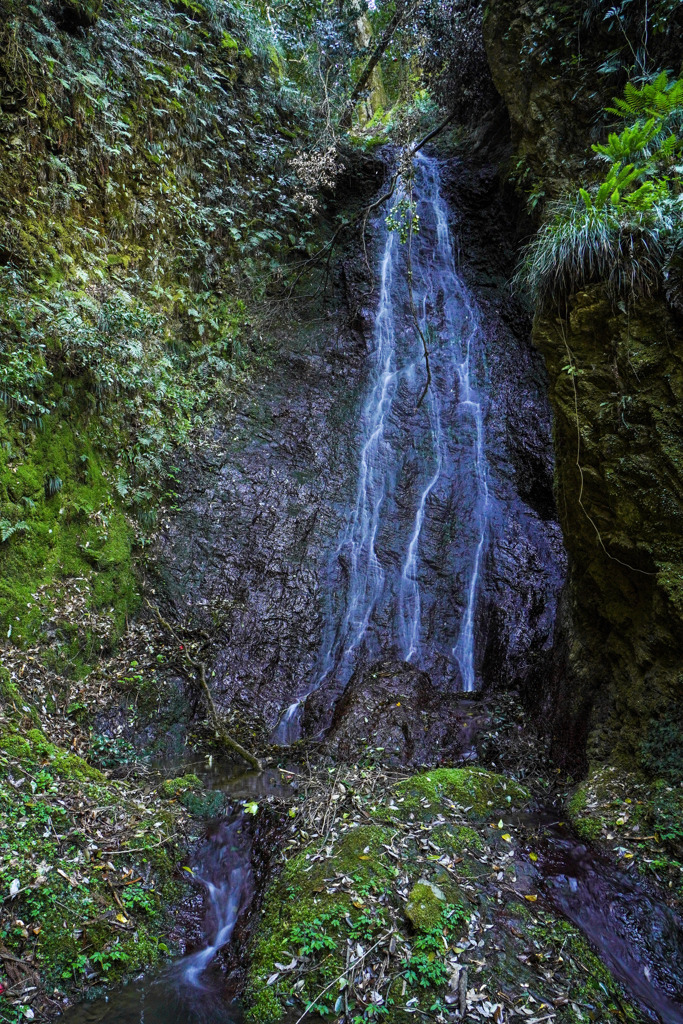
POLYGON ((193 878, 207 897, 206 944, 158 977, 134 982, 111 998, 69 1012, 69 1024, 242 1024, 225 995, 225 979, 211 974, 216 953, 230 941, 252 895, 251 841, 242 818, 221 822, 199 851, 193 878))

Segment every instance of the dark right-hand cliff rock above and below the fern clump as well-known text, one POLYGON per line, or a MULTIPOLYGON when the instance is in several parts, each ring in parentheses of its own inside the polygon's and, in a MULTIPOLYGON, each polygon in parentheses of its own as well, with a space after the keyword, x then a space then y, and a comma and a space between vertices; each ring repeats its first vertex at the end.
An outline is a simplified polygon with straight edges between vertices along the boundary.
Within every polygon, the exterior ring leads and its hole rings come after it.
MULTIPOLYGON (((653 67, 680 67, 680 14, 652 37, 653 67)), ((517 168, 517 183, 542 201, 590 178, 602 108, 624 84, 623 71, 596 73, 610 50, 608 28, 589 30, 577 5, 488 7, 489 67, 511 126, 506 169, 517 168)), ((664 297, 627 309, 597 286, 574 295, 566 314, 549 310, 535 322, 569 556, 568 668, 556 677, 552 712, 559 756, 585 750, 633 761, 653 722, 680 718, 682 333, 664 297)))

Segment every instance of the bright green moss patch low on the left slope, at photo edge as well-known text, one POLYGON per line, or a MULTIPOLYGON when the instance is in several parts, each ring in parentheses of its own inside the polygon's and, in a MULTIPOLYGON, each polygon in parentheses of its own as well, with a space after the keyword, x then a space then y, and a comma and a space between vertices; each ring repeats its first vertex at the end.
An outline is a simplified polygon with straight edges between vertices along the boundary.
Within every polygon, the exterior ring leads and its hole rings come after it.
POLYGON ((87 430, 48 418, 23 436, 0 411, 3 435, 10 454, 0 453, 0 518, 27 529, 0 545, 0 626, 19 644, 56 626, 65 655, 87 664, 137 605, 131 525, 87 430), (48 497, 45 481, 56 479, 48 497))

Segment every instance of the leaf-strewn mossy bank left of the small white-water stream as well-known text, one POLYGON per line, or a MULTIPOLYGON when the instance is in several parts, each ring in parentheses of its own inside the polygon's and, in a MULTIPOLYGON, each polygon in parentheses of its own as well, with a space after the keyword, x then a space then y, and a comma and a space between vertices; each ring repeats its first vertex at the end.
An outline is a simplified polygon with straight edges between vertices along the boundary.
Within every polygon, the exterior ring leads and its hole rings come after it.
POLYGON ((163 631, 131 626, 83 678, 49 655, 7 640, 0 653, 0 982, 12 1024, 177 952, 182 851, 197 819, 226 804, 195 774, 164 780, 151 767, 155 752, 188 756, 163 631))

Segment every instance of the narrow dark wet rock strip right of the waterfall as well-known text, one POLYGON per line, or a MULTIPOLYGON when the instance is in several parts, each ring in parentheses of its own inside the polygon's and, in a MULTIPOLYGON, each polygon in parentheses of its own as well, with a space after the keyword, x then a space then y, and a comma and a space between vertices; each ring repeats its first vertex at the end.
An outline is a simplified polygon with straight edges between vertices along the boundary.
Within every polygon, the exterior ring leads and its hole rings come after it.
MULTIPOLYGON (((501 131, 504 135, 504 131, 501 131)), ((537 711, 549 709, 564 674, 558 601, 565 553, 553 490, 554 453, 548 378, 528 344, 530 325, 514 301, 520 223, 515 197, 490 159, 456 162, 446 179, 463 275, 486 325, 490 378, 488 460, 500 502, 479 602, 477 647, 487 687, 514 684, 537 711)))

